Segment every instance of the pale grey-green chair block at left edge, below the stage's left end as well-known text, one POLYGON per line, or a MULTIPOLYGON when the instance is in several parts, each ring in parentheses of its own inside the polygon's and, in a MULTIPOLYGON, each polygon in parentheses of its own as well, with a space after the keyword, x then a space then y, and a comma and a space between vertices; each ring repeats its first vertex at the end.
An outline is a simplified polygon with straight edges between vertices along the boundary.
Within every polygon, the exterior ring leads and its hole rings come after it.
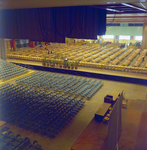
POLYGON ((28 69, 17 66, 15 64, 8 63, 7 61, 0 59, 0 79, 8 80, 18 75, 27 73, 28 69))

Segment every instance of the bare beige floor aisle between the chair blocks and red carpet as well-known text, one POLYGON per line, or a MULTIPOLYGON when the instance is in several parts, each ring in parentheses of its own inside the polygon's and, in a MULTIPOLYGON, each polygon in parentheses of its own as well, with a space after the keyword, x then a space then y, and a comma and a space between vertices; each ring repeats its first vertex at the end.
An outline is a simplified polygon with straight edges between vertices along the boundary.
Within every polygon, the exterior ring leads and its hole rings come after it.
POLYGON ((125 97, 128 99, 147 100, 147 86, 108 80, 102 81, 104 82, 103 87, 90 100, 86 100, 85 106, 54 139, 43 137, 30 131, 25 131, 16 126, 8 126, 14 133, 20 133, 24 137, 28 136, 32 141, 35 139, 38 140, 42 145, 43 150, 70 150, 72 145, 94 117, 95 112, 101 106, 104 97, 107 94, 112 94, 113 92, 119 93, 124 90, 125 97))

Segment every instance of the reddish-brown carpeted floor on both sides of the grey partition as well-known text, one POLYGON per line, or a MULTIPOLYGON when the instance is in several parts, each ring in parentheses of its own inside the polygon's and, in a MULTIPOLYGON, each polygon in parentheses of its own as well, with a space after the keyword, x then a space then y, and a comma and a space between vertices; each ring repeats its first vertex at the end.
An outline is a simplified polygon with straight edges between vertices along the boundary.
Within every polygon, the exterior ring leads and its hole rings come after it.
MULTIPOLYGON (((94 118, 72 146, 72 150, 106 150, 108 124, 94 118)), ((147 149, 147 102, 129 100, 122 109, 122 133, 118 143, 120 150, 147 149)))

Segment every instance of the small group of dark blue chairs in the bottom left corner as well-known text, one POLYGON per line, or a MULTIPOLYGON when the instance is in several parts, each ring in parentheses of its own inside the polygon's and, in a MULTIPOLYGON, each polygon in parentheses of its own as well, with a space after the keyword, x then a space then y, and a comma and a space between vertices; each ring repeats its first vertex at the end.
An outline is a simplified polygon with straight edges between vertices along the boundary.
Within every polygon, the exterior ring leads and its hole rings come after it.
POLYGON ((37 140, 31 143, 30 138, 22 138, 20 134, 13 134, 9 128, 0 129, 0 150, 42 150, 37 140))

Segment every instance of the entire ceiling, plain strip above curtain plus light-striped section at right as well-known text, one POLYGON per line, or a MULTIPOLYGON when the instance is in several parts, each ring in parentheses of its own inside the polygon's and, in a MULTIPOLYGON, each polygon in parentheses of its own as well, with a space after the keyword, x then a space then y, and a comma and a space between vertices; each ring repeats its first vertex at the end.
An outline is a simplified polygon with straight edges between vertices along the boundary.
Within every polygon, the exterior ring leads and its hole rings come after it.
POLYGON ((0 0, 0 9, 82 6, 107 10, 107 22, 147 22, 147 0, 0 0))

